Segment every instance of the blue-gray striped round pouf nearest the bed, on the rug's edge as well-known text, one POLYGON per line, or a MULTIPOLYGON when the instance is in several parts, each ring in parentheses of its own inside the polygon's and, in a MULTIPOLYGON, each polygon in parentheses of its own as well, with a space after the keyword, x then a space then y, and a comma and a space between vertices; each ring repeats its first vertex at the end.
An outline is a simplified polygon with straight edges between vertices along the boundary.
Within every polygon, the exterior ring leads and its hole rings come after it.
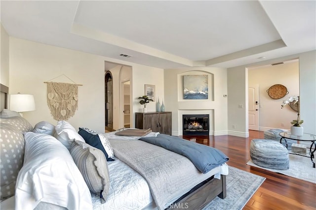
POLYGON ((269 169, 289 169, 288 150, 275 140, 254 139, 250 143, 254 164, 269 169))

